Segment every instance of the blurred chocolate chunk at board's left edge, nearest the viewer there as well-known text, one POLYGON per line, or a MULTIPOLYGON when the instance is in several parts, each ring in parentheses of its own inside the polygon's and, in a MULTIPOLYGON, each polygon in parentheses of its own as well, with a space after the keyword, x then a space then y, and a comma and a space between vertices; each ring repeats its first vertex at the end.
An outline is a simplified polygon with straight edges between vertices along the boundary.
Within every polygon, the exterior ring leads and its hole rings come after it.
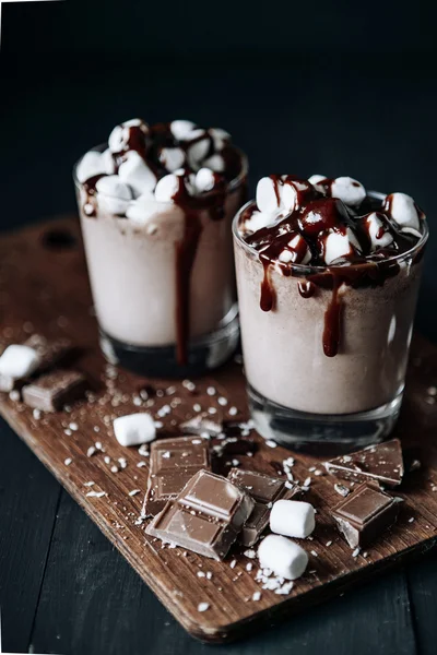
POLYGON ((86 390, 86 380, 76 371, 57 370, 23 386, 23 402, 43 412, 58 412, 80 398, 86 390))

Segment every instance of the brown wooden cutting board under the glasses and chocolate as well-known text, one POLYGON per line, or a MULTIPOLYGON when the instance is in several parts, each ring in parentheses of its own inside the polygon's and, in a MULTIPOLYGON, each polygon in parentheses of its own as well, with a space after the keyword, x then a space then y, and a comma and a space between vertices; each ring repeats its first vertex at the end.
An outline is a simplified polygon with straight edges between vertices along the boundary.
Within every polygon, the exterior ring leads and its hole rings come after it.
MULTIPOLYGON (((169 415, 158 418, 163 422, 160 438, 179 433, 178 424, 196 414, 197 392, 204 393, 206 386, 214 386, 216 394, 203 402, 202 409, 214 407, 216 416, 229 418, 228 409, 236 407, 238 414, 233 418, 243 420, 247 418, 247 407, 240 366, 232 362, 213 377, 197 380, 194 393, 180 382, 145 381, 108 367, 97 346, 75 218, 29 227, 0 239, 0 317, 1 347, 21 343, 35 332, 47 337, 69 336, 74 342, 78 347, 74 368, 90 378, 94 389, 92 402, 76 403, 70 412, 39 416, 8 394, 0 394, 0 412, 193 636, 222 642, 252 631, 265 621, 308 610, 406 556, 427 550, 436 541, 437 404, 427 390, 437 385, 437 348, 424 340, 414 340, 406 402, 397 429, 408 456, 418 458, 422 466, 405 475, 399 490, 404 502, 398 524, 368 549, 367 557, 362 553, 353 557, 328 511, 341 500, 334 490, 338 480, 318 475, 322 471, 321 461, 294 454, 295 479, 303 483, 311 478, 305 499, 317 508, 317 528, 314 539, 304 544, 310 557, 307 573, 288 595, 277 595, 262 590, 255 580, 257 560, 238 548, 232 550, 226 561, 215 562, 178 548, 162 547, 161 541, 144 534, 145 523, 140 524, 138 519, 146 485, 147 456, 138 449, 119 445, 111 428, 115 417, 146 407, 147 401, 139 396, 146 382, 157 392, 152 394, 150 412, 158 417, 162 406, 174 405, 169 415), (227 406, 217 403, 218 396, 228 400, 227 406), (180 403, 175 398, 180 398, 180 403), (98 441, 104 452, 97 450, 90 455, 88 449, 98 441), (88 496, 90 492, 93 495, 88 496), (105 495, 101 496, 102 492, 105 495), (250 564, 252 569, 248 570, 250 564), (203 575, 206 572, 212 575, 203 575), (258 600, 252 599, 256 592, 261 592, 258 600), (200 612, 200 603, 209 604, 209 609, 200 612)), ((268 446, 255 432, 250 439, 257 446, 252 456, 225 453, 216 460, 216 471, 225 472, 233 460, 238 460, 243 467, 271 474, 281 472, 290 451, 268 446)))

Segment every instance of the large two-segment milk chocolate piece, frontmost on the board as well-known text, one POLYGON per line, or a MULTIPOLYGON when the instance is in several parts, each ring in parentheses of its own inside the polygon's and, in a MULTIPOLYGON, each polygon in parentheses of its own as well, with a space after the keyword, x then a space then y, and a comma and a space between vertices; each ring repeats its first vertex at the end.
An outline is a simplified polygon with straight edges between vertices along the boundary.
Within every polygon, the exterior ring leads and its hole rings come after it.
POLYGON ((228 479, 199 471, 146 533, 204 557, 222 560, 253 509, 253 500, 228 479))

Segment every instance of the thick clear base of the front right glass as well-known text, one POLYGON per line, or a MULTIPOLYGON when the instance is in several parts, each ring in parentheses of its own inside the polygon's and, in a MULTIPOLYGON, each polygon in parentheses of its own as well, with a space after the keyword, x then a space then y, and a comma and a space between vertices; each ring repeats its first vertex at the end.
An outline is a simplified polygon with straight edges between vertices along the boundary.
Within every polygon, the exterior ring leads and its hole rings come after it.
POLYGON ((383 441, 392 431, 402 404, 391 403, 356 414, 309 414, 277 405, 248 385, 249 407, 257 431, 291 450, 333 455, 383 441))

